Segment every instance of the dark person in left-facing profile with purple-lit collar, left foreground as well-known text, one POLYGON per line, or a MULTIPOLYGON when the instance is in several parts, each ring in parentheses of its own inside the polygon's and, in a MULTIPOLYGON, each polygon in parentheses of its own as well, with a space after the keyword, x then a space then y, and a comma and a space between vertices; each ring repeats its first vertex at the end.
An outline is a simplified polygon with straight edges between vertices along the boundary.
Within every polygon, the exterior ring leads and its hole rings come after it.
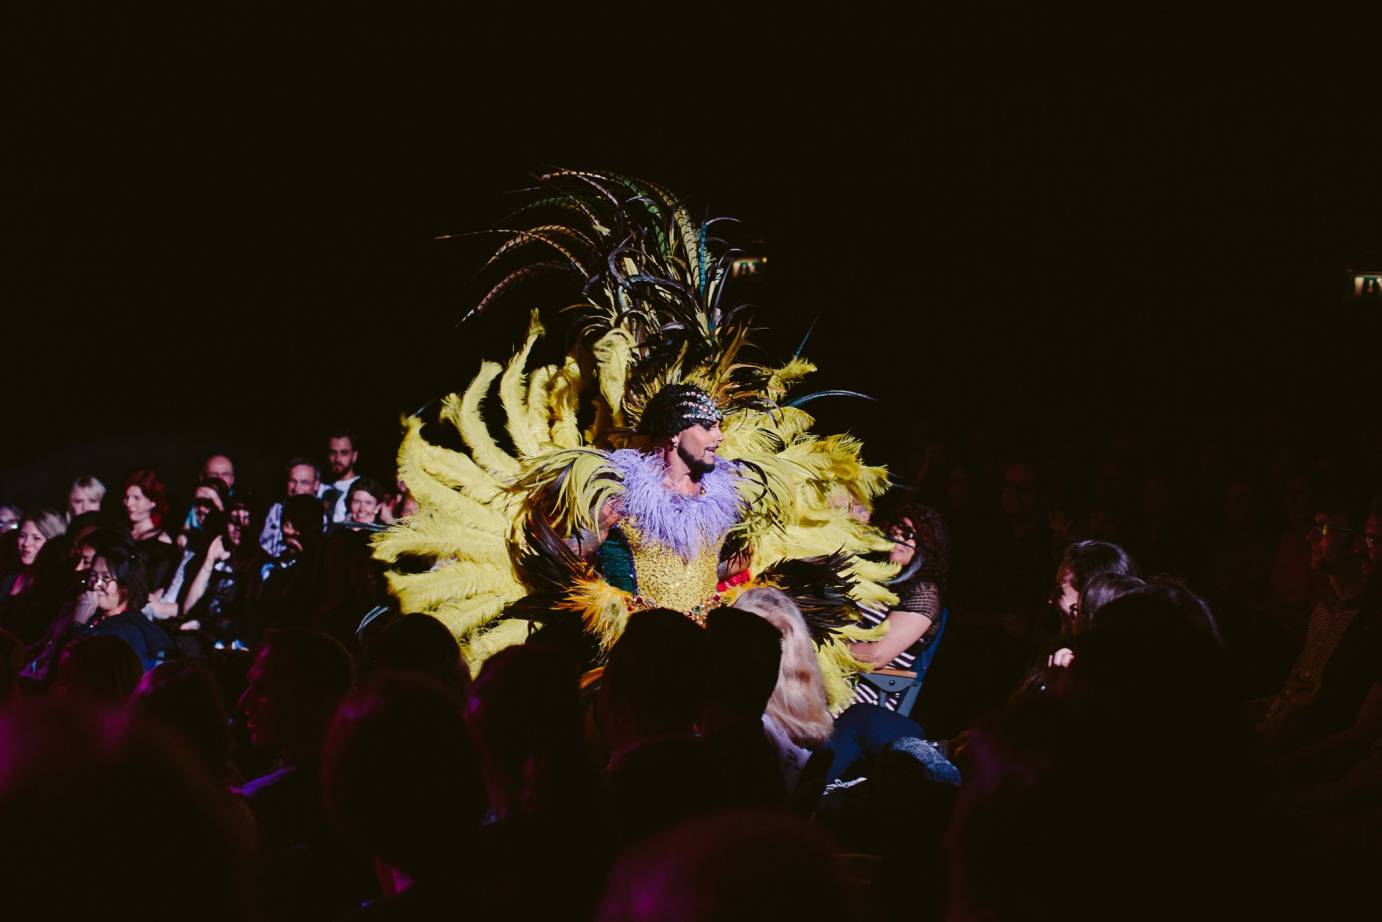
POLYGON ((250 744, 278 767, 239 792, 258 825, 271 918, 334 918, 370 893, 322 806, 322 744, 352 681, 346 648, 301 629, 271 630, 250 666, 239 709, 250 744))

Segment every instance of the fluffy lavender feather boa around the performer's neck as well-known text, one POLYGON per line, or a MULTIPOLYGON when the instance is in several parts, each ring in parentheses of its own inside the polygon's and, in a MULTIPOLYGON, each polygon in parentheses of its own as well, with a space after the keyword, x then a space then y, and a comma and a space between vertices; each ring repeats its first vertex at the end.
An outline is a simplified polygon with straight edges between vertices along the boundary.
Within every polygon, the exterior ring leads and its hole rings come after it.
POLYGON ((656 455, 632 448, 609 453, 609 464, 623 481, 623 511, 644 538, 691 560, 713 547, 739 521, 742 503, 731 462, 717 460, 701 478, 701 493, 690 496, 663 485, 668 466, 656 455))

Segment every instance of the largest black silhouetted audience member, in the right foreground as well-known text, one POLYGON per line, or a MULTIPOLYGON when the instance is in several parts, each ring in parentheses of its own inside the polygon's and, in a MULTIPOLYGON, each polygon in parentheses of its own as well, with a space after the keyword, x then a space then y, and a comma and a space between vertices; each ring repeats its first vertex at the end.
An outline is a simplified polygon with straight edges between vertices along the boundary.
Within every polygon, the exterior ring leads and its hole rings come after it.
POLYGON ((974 730, 949 835, 956 919, 1253 916, 1277 903, 1227 658, 1204 607, 1108 603, 1056 694, 974 730), (1146 886, 1146 869, 1161 883, 1146 886))

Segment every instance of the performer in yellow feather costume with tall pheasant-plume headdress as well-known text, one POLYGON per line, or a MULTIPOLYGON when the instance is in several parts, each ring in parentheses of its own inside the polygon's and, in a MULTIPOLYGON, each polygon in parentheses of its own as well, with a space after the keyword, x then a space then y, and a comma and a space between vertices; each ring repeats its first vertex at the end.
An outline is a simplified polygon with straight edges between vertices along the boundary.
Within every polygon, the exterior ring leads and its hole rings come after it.
POLYGON ((506 365, 484 362, 444 398, 466 451, 405 422, 399 476, 419 510, 375 549, 435 563, 391 572, 391 590, 446 623, 474 668, 535 623, 579 623, 598 657, 640 608, 703 621, 744 589, 778 586, 843 705, 862 668, 847 644, 879 636, 857 605, 896 601, 891 545, 858 514, 886 471, 861 462, 857 440, 810 433, 802 405, 817 395, 788 399, 814 370, 800 350, 781 366, 742 358, 749 318, 720 303, 735 254, 712 235, 723 218, 694 221, 666 189, 609 173, 538 184, 486 264, 498 281, 462 319, 565 274, 582 294, 572 346, 529 370, 545 332, 532 311, 506 365), (496 379, 509 445, 481 415, 496 379))

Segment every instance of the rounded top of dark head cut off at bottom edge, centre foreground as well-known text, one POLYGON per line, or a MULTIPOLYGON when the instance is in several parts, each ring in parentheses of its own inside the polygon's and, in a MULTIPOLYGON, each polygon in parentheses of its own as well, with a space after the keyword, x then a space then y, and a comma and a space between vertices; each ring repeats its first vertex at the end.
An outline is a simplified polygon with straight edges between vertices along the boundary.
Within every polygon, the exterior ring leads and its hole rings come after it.
POLYGON ((820 827, 739 810, 691 820, 621 856, 600 922, 855 919, 858 893, 820 827))

